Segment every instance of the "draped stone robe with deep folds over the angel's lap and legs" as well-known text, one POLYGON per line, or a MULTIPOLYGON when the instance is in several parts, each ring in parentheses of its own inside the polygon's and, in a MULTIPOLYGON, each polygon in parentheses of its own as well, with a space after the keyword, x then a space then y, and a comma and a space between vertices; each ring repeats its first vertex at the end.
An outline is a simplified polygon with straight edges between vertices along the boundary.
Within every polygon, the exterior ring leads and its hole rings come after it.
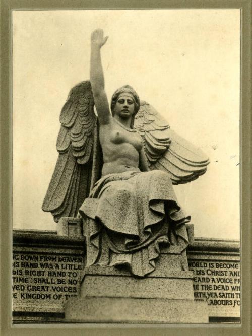
POLYGON ((188 245, 185 217, 169 175, 160 170, 125 171, 98 180, 80 210, 86 266, 128 265, 133 275, 155 270, 159 244, 188 245))

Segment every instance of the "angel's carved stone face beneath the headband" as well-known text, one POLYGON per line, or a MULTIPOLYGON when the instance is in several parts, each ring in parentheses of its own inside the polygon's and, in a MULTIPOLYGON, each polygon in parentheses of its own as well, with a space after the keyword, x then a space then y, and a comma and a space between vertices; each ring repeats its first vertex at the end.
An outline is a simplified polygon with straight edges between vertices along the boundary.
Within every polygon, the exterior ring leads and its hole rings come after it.
POLYGON ((113 115, 121 118, 129 118, 134 115, 135 104, 134 98, 129 93, 121 93, 114 105, 113 115))

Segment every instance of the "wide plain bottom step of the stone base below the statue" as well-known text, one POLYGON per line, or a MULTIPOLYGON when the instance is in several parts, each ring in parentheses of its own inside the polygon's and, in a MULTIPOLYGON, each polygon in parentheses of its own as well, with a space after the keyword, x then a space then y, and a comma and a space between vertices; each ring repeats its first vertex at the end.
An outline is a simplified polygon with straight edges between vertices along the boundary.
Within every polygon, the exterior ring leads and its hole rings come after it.
POLYGON ((73 298, 65 308, 67 322, 207 323, 204 302, 141 298, 73 298), (85 317, 84 317, 85 316, 85 317))

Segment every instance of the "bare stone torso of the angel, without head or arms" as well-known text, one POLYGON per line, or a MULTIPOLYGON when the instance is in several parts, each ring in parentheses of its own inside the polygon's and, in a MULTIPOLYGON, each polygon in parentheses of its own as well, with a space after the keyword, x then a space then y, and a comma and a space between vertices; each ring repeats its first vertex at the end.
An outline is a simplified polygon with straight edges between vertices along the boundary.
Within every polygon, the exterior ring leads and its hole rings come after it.
POLYGON ((111 117, 108 124, 100 125, 100 143, 104 161, 102 176, 138 169, 143 145, 136 131, 120 126, 111 117))

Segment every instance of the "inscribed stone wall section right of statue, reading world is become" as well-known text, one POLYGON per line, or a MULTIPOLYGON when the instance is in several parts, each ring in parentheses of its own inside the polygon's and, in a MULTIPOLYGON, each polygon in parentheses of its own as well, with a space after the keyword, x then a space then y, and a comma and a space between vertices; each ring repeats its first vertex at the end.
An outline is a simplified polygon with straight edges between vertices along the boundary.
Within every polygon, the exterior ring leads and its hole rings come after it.
POLYGON ((189 269, 194 272, 195 299, 208 303, 210 319, 214 321, 220 316, 230 321, 238 319, 241 304, 239 243, 196 238, 187 253, 189 269))

